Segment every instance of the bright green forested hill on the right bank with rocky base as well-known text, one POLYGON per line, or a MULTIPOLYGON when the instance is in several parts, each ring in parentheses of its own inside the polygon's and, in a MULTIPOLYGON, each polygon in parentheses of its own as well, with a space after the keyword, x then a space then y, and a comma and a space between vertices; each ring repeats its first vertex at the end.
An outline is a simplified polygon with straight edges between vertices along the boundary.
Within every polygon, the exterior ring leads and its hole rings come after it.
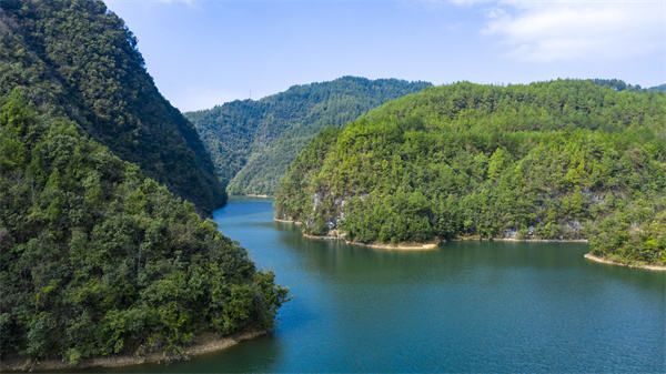
POLYGON ((324 129, 276 216, 357 242, 581 239, 666 262, 666 94, 557 80, 456 83, 324 129))

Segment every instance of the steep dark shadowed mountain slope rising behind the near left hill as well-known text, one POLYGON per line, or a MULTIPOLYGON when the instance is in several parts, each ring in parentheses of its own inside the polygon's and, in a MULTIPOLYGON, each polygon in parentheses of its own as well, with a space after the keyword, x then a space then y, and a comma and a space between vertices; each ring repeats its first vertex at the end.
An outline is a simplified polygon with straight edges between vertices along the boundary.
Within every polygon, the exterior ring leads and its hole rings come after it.
POLYGON ((203 211, 225 201, 192 124, 158 91, 123 21, 99 0, 0 1, 0 94, 20 87, 203 211))

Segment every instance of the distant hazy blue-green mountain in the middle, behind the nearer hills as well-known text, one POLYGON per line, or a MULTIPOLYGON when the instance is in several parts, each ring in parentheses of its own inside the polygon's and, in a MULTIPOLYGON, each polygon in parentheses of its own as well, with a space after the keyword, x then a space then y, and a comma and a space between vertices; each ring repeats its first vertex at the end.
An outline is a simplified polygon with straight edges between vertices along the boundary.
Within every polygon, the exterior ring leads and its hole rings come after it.
POLYGON ((185 117, 196 127, 229 193, 272 195, 286 166, 323 127, 342 127, 372 108, 428 85, 343 77, 185 117))

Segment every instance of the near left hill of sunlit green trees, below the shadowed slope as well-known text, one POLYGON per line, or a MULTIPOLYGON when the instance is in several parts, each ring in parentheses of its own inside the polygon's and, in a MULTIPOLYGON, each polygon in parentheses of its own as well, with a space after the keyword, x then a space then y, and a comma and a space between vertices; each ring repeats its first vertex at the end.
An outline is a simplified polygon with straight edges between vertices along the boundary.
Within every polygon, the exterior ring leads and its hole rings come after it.
POLYGON ((0 356, 179 354, 273 325, 286 289, 193 204, 18 91, 0 103, 0 356))

